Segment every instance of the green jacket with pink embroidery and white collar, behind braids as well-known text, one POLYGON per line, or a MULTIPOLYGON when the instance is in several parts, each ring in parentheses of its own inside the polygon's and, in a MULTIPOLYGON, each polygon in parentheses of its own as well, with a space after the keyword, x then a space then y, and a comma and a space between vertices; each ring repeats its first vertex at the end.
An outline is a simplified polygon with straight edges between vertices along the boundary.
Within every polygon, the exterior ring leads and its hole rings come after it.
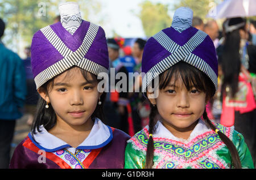
MULTIPOLYGON (((187 140, 176 138, 162 125, 156 123, 154 140, 154 165, 152 168, 232 168, 228 147, 204 121, 200 119, 187 140)), ((254 168, 249 149, 243 136, 234 127, 216 123, 237 148, 242 168, 254 168)), ((144 127, 128 141, 125 151, 125 168, 143 168, 146 162, 148 127, 144 127)))

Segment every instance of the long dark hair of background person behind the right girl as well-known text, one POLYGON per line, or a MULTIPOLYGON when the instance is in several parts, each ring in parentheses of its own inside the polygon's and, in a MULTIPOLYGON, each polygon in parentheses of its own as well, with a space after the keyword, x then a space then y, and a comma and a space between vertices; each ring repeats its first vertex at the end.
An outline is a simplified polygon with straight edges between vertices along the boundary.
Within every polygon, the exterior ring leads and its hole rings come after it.
MULTIPOLYGON (((245 22, 242 18, 232 18, 228 25, 235 25, 245 22)), ((226 92, 226 87, 229 87, 230 96, 234 97, 238 91, 238 76, 241 68, 240 60, 240 29, 245 30, 245 25, 232 32, 225 33, 225 42, 223 54, 220 56, 221 68, 223 72, 223 81, 221 86, 221 97, 226 92)), ((222 99, 222 98, 221 98, 222 99)))

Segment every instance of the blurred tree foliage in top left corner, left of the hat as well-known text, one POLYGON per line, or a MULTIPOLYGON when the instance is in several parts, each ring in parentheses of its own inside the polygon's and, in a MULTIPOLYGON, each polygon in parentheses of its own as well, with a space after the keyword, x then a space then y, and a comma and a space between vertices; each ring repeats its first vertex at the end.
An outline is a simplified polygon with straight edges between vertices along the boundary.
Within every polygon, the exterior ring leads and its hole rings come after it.
POLYGON ((19 51, 20 41, 31 42, 33 33, 51 22, 52 17, 43 12, 39 3, 40 0, 0 1, 0 16, 6 22, 7 45, 11 44, 19 51))

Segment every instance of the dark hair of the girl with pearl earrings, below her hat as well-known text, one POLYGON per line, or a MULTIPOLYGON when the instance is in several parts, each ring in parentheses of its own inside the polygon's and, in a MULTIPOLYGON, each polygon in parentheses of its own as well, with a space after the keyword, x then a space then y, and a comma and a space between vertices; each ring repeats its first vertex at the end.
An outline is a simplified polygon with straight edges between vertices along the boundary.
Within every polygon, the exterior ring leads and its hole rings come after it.
MULTIPOLYGON (((79 68, 79 67, 71 67, 68 70, 64 71, 64 72, 68 72, 65 75, 65 78, 67 78, 68 76, 69 77, 72 76, 72 73, 69 71, 72 68, 79 68)), ((101 79, 98 80, 96 75, 91 74, 90 72, 85 71, 82 68, 79 68, 79 69, 80 69, 82 75, 84 76, 84 79, 86 80, 86 82, 89 82, 89 83, 100 82, 101 79), (91 78, 89 78, 89 77, 91 77, 91 78)), ((61 74, 63 74, 64 72, 62 72, 61 74)), ((48 82, 44 83, 42 85, 42 87, 40 87, 41 91, 46 92, 46 95, 48 94, 48 91, 51 91, 51 88, 53 87, 53 82, 54 82, 55 78, 48 80, 48 82)), ((100 118, 101 121, 103 121, 103 122, 105 120, 104 119, 104 111, 103 111, 105 96, 106 96, 106 92, 103 92, 101 95, 101 102, 102 102, 101 105, 97 104, 96 109, 94 110, 93 114, 91 115, 91 118, 93 121, 95 120, 95 118, 100 118)), ((32 123, 32 127, 31 127, 32 134, 35 134, 36 131, 40 132, 39 127, 41 125, 43 125, 47 131, 50 130, 53 126, 55 126, 56 118, 57 118, 56 113, 53 110, 51 104, 48 104, 48 105, 49 105, 49 108, 45 108, 46 101, 41 96, 39 96, 39 100, 38 100, 38 104, 37 104, 37 108, 36 108, 36 116, 35 116, 34 122, 32 123)))

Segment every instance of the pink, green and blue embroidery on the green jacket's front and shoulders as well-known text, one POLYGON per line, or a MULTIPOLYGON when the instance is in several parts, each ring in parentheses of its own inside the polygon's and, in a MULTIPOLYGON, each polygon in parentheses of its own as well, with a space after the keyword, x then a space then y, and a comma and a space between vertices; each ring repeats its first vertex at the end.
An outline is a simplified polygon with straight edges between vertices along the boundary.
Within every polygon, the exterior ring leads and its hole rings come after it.
MULTIPOLYGON (((226 135, 230 135, 230 128, 219 124, 216 124, 216 127, 226 135)), ((187 144, 167 138, 153 139, 154 153, 159 156, 155 168, 226 168, 217 160, 216 151, 224 143, 214 131, 198 135, 187 144)), ((147 128, 139 131, 131 140, 135 147, 145 152, 148 142, 147 128)))

